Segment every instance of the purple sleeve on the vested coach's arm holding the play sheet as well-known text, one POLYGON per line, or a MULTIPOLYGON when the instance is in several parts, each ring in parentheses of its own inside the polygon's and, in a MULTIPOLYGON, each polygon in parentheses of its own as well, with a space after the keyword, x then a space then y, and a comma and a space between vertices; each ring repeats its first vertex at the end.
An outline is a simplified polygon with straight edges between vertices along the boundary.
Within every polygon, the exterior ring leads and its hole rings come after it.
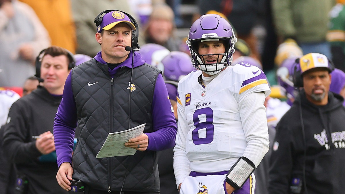
POLYGON ((160 74, 157 77, 151 109, 154 132, 146 133, 149 141, 147 150, 160 151, 175 146, 177 125, 171 110, 168 91, 160 74))

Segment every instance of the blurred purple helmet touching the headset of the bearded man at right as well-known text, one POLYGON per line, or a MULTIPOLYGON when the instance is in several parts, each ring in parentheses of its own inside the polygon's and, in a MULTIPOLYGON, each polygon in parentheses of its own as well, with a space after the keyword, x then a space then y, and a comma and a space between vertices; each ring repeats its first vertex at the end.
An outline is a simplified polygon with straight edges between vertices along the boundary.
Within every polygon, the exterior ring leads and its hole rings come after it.
POLYGON ((278 84, 284 90, 287 97, 287 104, 290 106, 298 94, 298 91, 293 83, 294 68, 297 65, 297 58, 298 57, 285 59, 276 72, 278 84))

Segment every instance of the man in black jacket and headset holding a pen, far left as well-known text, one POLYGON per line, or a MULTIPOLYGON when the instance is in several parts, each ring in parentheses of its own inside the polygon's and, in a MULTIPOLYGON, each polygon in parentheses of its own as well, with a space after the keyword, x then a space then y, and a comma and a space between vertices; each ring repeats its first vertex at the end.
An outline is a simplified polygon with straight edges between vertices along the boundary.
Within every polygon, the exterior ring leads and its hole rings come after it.
POLYGON ((66 49, 51 46, 43 50, 36 59, 41 85, 10 108, 3 129, 3 151, 17 168, 16 193, 67 193, 56 182, 52 132, 65 81, 74 66, 66 49))

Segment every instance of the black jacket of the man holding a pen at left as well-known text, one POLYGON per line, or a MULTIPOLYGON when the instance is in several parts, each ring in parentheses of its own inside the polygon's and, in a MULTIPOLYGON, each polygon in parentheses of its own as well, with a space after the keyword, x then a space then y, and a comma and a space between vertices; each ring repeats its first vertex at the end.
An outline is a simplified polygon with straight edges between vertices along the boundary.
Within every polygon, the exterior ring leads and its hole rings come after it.
POLYGON ((28 194, 67 193, 56 181, 58 166, 55 162, 40 162, 42 155, 36 148, 35 139, 50 130, 53 132, 54 117, 62 96, 53 96, 44 87, 17 100, 11 107, 10 122, 4 131, 3 148, 18 174, 29 182, 28 194))

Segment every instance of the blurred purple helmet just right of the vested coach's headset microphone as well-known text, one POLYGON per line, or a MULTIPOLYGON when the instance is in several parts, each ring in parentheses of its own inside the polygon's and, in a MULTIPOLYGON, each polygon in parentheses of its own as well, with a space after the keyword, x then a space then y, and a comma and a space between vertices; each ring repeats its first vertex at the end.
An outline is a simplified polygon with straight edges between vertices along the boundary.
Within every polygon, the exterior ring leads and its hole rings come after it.
POLYGON ((170 53, 167 48, 155 43, 147 43, 142 45, 137 52, 141 54, 142 60, 146 61, 147 64, 164 72, 164 66, 161 65, 160 61, 170 53))

